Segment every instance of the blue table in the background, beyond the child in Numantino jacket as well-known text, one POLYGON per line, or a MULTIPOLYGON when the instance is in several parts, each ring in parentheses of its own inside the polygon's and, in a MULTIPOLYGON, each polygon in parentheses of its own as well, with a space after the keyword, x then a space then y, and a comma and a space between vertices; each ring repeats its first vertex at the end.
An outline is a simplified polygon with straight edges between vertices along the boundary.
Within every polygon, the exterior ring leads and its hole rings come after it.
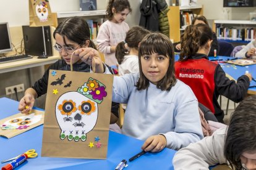
MULTIPOLYGON (((179 60, 179 55, 174 56, 175 61, 179 60)), ((209 57, 209 60, 220 60, 218 61, 225 71, 226 75, 230 79, 237 80, 240 76, 245 74, 245 71, 249 71, 252 74, 252 77, 256 79, 256 65, 248 65, 248 66, 241 66, 241 65, 234 65, 231 63, 226 63, 224 61, 228 59, 234 59, 234 57, 225 57, 225 56, 217 56, 217 57, 209 57)), ((250 86, 255 86, 256 82, 251 81, 250 86)), ((250 87, 247 91, 248 94, 256 94, 256 87, 250 87)))

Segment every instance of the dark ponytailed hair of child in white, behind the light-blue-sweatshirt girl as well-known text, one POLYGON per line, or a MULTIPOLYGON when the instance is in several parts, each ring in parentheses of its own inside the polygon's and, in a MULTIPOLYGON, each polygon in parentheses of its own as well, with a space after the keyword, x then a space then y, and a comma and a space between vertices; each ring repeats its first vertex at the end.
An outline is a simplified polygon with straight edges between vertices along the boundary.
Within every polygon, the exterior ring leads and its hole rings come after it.
POLYGON ((116 46, 116 59, 119 64, 124 60, 124 55, 129 53, 129 49, 126 49, 125 44, 130 48, 135 48, 138 50, 139 42, 148 34, 150 31, 146 30, 142 26, 134 26, 130 28, 126 33, 126 39, 119 42, 116 46))

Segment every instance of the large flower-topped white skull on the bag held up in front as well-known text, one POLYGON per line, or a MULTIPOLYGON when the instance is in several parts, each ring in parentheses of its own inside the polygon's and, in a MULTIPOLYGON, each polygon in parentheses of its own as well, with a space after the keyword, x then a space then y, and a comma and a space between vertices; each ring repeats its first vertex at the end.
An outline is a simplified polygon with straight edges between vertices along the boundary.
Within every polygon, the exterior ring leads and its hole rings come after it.
POLYGON ((98 118, 98 104, 106 97, 106 86, 89 78, 77 91, 66 92, 57 100, 56 119, 61 128, 60 138, 85 141, 98 118))

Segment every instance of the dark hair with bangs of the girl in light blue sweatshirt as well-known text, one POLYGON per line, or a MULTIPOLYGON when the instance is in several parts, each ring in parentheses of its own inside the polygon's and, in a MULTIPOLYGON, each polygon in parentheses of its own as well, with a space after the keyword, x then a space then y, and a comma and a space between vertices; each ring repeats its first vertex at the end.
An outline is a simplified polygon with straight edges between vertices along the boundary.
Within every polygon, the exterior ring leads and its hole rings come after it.
POLYGON ((162 91, 169 91, 173 87, 177 80, 174 73, 174 49, 171 40, 164 34, 161 33, 149 33, 145 38, 142 39, 139 46, 139 69, 140 78, 136 84, 137 89, 147 89, 149 86, 149 80, 143 75, 141 57, 145 54, 159 54, 168 57, 169 67, 156 87, 162 91))

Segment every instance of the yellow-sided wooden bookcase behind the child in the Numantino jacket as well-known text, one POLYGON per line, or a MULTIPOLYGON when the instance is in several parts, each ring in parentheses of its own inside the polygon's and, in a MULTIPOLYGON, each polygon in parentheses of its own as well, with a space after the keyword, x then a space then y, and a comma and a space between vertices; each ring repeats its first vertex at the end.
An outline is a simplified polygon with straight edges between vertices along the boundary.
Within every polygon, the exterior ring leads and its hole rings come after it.
POLYGON ((173 39, 174 42, 180 41, 181 38, 181 23, 180 23, 180 14, 181 11, 191 11, 193 14, 203 15, 203 6, 202 5, 193 5, 193 6, 169 6, 168 21, 169 21, 169 33, 170 39, 173 39))

